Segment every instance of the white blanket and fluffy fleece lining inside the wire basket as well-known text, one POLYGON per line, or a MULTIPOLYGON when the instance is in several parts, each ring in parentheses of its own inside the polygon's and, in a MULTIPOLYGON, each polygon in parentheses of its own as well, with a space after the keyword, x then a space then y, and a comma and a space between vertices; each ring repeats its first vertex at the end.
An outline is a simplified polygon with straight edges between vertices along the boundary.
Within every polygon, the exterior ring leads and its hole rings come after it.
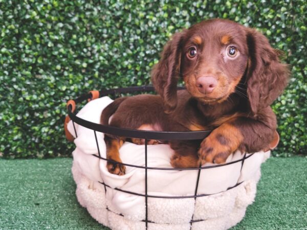
MULTIPOLYGON (((101 111, 111 102, 108 97, 90 101, 77 116, 99 123, 101 111)), ((76 149, 73 152, 72 172, 79 203, 99 223, 112 229, 145 229, 145 197, 114 189, 145 194, 145 170, 126 167, 123 176, 109 173, 105 160, 92 155, 98 155, 94 131, 76 123, 74 125, 78 137, 74 140, 76 149)), ((68 124, 68 130, 75 136, 72 121, 68 124)), ((105 158, 103 133, 96 134, 100 155, 105 158)), ((142 145, 126 142, 120 149, 121 159, 126 164, 145 166, 144 149, 142 145)), ((148 145, 147 166, 171 168, 171 154, 168 145, 148 145)), ((243 219, 247 206, 254 201, 260 165, 269 155, 270 151, 255 153, 245 159, 243 167, 239 161, 227 166, 202 169, 197 194, 213 195, 197 198, 148 197, 147 229, 227 229, 236 225, 243 219)), ((235 152, 228 157, 227 162, 243 156, 235 152)), ((208 165, 212 164, 204 166, 208 165)), ((198 171, 148 170, 147 194, 193 196, 198 171)))

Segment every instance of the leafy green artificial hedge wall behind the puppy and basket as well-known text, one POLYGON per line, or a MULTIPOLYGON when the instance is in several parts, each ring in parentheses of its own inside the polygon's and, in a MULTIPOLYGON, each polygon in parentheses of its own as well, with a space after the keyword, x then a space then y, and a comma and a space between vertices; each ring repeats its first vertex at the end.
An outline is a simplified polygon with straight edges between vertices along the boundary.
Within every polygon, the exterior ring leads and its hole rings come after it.
POLYGON ((70 155, 65 103, 92 89, 144 85, 171 34, 220 17, 258 28, 292 79, 273 108, 275 155, 306 153, 306 13, 301 1, 0 1, 0 155, 70 155))

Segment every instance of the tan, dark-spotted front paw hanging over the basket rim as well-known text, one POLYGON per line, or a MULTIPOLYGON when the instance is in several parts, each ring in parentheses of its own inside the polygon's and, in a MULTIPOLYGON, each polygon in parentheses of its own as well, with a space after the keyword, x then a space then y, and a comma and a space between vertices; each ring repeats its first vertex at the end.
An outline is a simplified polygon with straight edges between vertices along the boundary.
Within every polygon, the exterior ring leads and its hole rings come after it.
POLYGON ((198 151, 202 164, 214 163, 223 164, 226 162, 227 157, 232 153, 232 149, 227 144, 221 144, 211 134, 201 143, 198 151))

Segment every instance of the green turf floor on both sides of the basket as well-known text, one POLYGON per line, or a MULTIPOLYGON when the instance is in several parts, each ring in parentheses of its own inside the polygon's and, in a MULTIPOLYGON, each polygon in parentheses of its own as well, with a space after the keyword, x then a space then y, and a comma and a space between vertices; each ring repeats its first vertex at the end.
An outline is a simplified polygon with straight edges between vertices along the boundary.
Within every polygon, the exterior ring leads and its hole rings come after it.
MULTIPOLYGON (((78 204, 71 166, 71 158, 0 158, 0 229, 106 229, 78 204)), ((268 159, 233 229, 307 229, 307 157, 268 159)))

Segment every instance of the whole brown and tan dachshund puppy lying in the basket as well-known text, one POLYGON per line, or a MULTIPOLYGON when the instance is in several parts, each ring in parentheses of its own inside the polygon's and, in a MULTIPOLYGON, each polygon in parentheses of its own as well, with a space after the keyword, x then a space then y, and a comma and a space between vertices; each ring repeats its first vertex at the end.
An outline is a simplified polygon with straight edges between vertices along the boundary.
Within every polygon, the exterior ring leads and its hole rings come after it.
MULTIPOLYGON (((101 123, 130 129, 196 131, 213 129, 204 140, 170 141, 171 165, 198 167, 224 163, 239 149, 268 148, 276 132, 270 105, 287 85, 289 70, 268 39, 254 29, 230 20, 202 21, 173 35, 153 68, 151 78, 159 95, 116 99, 101 115, 101 123), (183 79, 186 90, 177 91, 183 79)), ((106 134, 107 158, 121 162, 125 138, 106 134)), ((143 144, 144 140, 131 140, 143 144)), ((150 140, 149 144, 157 144, 150 140)), ((107 163, 122 175, 125 167, 107 163)))

